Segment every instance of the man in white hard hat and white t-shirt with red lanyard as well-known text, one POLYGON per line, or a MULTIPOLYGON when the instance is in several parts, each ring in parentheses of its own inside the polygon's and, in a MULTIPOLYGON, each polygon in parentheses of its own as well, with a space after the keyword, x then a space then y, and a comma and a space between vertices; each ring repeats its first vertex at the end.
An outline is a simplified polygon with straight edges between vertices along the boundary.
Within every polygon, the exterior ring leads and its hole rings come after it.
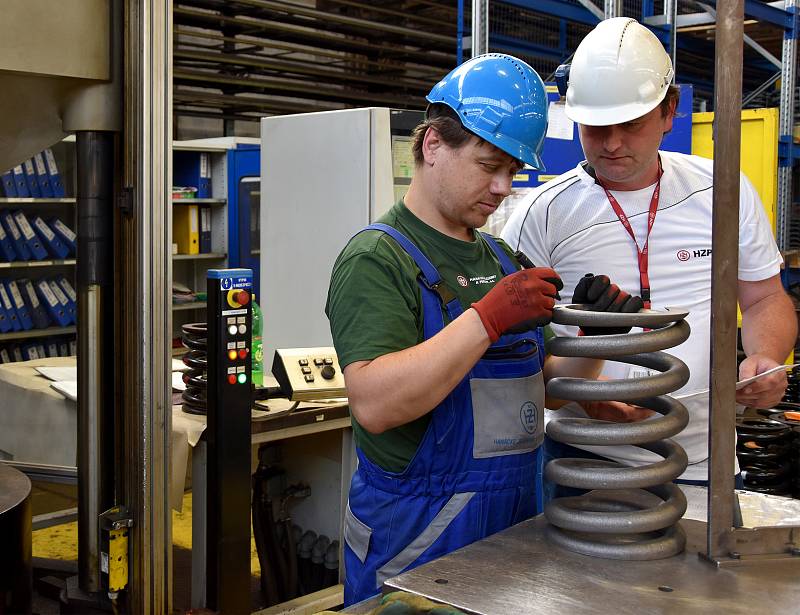
MULTIPOLYGON (((689 340, 669 350, 691 370, 686 386, 673 393, 691 417, 675 439, 689 457, 679 482, 703 484, 708 479, 713 167, 711 160, 659 151, 678 102, 672 74, 669 56, 647 28, 629 18, 600 22, 575 52, 566 92, 565 112, 578 124, 586 161, 534 190, 515 209, 502 237, 537 265, 558 271, 565 299, 585 271, 602 270, 620 288, 640 295, 646 307, 690 310, 689 340)), ((738 299, 747 354, 741 379, 783 363, 797 325, 780 282, 780 252, 744 175, 740 190, 738 299)), ((553 329, 576 334, 574 327, 553 329)), ((606 366, 608 378, 643 375, 641 367, 610 361, 606 366)), ((779 370, 738 391, 736 399, 771 408, 785 388, 786 374, 779 370)), ((650 411, 592 402, 548 414, 628 422, 650 411)), ((632 446, 581 448, 548 440, 545 460, 603 456, 638 465, 656 458, 632 446)))

